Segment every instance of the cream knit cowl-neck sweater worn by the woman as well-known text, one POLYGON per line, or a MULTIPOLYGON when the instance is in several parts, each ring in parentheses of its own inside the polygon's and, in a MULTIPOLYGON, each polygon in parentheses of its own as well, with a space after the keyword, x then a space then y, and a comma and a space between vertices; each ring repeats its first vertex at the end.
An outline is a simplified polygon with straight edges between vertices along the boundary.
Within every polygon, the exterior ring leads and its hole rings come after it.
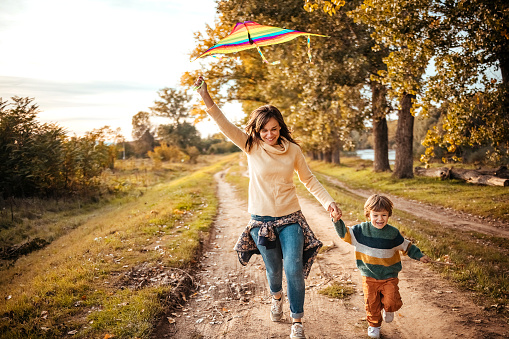
POLYGON ((246 152, 247 134, 232 124, 217 105, 207 109, 219 129, 247 154, 249 168, 248 212, 260 216, 282 217, 300 210, 293 172, 327 209, 334 201, 311 173, 300 147, 283 138, 283 148, 260 140, 246 152))

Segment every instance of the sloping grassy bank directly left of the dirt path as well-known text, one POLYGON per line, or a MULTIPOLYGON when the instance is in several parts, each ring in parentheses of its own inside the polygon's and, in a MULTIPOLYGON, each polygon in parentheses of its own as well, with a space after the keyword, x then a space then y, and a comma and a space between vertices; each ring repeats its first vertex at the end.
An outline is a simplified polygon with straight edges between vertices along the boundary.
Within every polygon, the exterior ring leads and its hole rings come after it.
POLYGON ((217 210, 213 174, 230 160, 154 180, 19 258, 0 276, 0 336, 148 338, 172 290, 163 278, 197 260, 217 210), (129 273, 156 281, 133 287, 129 273))

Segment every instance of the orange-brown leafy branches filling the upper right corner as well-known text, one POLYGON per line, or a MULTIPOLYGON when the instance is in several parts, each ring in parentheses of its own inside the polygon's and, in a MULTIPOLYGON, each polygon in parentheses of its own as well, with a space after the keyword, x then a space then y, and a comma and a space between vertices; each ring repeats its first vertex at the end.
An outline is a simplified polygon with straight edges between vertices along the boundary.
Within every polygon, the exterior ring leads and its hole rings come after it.
MULTIPOLYGON (((343 1, 306 0, 307 10, 341 13, 343 1)), ((414 113, 443 116, 430 129, 421 160, 436 150, 459 161, 465 148, 487 147, 487 158, 509 155, 509 7, 487 0, 365 0, 348 15, 373 28, 375 48, 388 48, 393 97, 417 95, 414 113)))

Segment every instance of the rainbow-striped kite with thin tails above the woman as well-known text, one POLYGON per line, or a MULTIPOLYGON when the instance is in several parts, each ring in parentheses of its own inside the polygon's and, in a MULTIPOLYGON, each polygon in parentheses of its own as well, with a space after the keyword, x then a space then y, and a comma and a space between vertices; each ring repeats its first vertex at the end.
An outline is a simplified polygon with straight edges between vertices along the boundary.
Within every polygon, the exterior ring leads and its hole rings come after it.
POLYGON ((217 44, 206 50, 198 58, 207 55, 228 54, 244 51, 250 48, 256 48, 262 56, 263 61, 269 63, 260 50, 261 46, 281 44, 301 35, 306 35, 308 37, 308 56, 311 61, 309 37, 311 35, 327 37, 326 35, 294 31, 291 29, 273 26, 264 26, 254 21, 238 22, 226 38, 221 39, 217 44))

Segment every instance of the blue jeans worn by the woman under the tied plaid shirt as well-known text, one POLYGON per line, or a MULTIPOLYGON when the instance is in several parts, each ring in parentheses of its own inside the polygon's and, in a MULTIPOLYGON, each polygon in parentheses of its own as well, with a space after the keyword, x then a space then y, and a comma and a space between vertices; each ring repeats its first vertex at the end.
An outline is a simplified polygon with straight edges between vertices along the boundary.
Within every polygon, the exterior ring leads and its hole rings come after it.
MULTIPOLYGON (((260 217, 252 215, 252 219, 260 221, 276 220, 275 217, 260 217)), ((283 268, 287 282, 287 294, 290 302, 291 316, 300 319, 304 316, 304 295, 306 285, 303 272, 304 233, 299 224, 289 224, 276 227, 276 248, 266 249, 258 245, 258 227, 251 229, 251 237, 260 250, 270 293, 276 295, 283 290, 283 268)))

